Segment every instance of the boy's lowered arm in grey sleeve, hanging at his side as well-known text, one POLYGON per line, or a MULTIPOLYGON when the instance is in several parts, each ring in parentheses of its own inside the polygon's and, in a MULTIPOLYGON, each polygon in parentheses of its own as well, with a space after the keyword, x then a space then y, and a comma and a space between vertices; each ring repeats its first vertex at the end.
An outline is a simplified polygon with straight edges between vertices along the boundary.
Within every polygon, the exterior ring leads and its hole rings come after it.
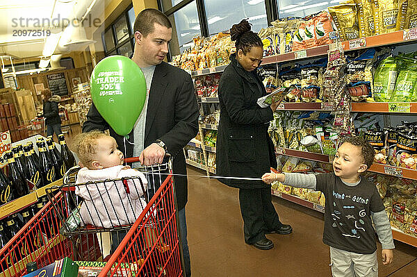
POLYGON ((393 249, 395 245, 388 216, 385 210, 382 210, 380 212, 370 212, 370 217, 373 219, 375 231, 382 245, 382 263, 389 265, 393 261, 393 249))

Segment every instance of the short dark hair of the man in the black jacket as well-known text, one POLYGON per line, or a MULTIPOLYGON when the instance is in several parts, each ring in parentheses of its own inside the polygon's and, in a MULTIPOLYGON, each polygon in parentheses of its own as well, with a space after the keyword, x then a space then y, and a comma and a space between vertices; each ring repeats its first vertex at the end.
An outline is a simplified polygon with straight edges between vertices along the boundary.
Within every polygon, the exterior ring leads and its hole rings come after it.
POLYGON ((140 32, 145 37, 154 31, 155 23, 172 28, 170 19, 161 11, 147 8, 139 12, 133 25, 133 33, 140 32))

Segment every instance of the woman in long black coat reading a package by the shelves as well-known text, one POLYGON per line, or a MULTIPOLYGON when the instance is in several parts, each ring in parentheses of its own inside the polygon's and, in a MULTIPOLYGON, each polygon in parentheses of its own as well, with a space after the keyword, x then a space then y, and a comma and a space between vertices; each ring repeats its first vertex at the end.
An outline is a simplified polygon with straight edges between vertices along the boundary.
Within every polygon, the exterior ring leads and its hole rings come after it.
MULTIPOLYGON (((256 73, 261 63, 263 44, 250 31, 244 19, 231 27, 231 40, 236 40, 236 54, 220 78, 220 122, 217 139, 217 174, 219 176, 260 178, 270 167, 277 167, 274 145, 268 135, 269 121, 279 103, 261 108, 256 100, 266 95, 265 87, 256 73)), ((272 249, 268 233, 289 234, 291 226, 279 221, 270 185, 259 181, 220 179, 239 189, 245 242, 258 249, 272 249)))

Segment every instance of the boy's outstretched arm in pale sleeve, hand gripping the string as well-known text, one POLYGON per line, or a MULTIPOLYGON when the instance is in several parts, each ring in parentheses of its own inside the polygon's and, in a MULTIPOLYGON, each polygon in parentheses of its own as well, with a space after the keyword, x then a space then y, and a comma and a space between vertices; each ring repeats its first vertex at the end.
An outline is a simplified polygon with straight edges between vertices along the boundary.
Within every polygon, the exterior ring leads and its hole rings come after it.
POLYGON ((302 173, 285 173, 276 174, 273 172, 265 173, 262 176, 262 180, 270 184, 273 181, 279 181, 284 185, 291 185, 293 187, 303 187, 306 189, 316 190, 317 181, 314 174, 302 174, 302 173))

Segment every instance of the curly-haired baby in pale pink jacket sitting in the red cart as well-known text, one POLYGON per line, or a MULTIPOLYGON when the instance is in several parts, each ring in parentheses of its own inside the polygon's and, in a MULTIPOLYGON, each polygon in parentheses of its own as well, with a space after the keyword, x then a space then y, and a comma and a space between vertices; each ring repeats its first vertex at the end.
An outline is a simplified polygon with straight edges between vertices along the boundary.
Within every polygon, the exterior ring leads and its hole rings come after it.
POLYGON ((100 131, 77 135, 73 148, 84 166, 75 189, 84 199, 81 222, 104 228, 133 224, 146 206, 145 175, 125 167, 115 139, 100 131))

